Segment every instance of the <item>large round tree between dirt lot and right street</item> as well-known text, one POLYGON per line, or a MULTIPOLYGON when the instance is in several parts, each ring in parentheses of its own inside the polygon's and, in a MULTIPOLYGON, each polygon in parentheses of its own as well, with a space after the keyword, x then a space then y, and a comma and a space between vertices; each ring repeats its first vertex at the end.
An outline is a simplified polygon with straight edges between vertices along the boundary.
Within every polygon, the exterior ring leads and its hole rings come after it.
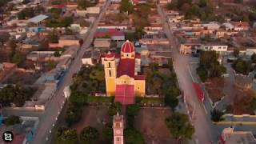
POLYGON ((166 118, 166 126, 178 142, 187 138, 191 139, 194 134, 194 127, 190 124, 186 114, 174 112, 174 114, 166 118))

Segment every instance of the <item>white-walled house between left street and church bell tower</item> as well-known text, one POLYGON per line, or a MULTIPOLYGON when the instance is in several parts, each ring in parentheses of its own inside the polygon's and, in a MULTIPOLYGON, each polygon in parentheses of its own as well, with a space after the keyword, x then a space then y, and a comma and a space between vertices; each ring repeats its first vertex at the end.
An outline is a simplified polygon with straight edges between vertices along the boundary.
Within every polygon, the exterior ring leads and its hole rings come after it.
POLYGON ((100 59, 101 59, 100 50, 86 50, 81 60, 83 65, 94 66, 96 63, 100 62, 100 59))

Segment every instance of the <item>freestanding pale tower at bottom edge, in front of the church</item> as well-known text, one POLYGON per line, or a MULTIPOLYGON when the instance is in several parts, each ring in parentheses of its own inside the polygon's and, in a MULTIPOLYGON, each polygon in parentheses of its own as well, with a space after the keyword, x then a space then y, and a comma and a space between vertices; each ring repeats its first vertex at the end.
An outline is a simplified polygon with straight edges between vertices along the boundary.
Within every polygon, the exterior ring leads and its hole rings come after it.
POLYGON ((123 116, 116 114, 113 117, 114 144, 123 144, 123 116))

